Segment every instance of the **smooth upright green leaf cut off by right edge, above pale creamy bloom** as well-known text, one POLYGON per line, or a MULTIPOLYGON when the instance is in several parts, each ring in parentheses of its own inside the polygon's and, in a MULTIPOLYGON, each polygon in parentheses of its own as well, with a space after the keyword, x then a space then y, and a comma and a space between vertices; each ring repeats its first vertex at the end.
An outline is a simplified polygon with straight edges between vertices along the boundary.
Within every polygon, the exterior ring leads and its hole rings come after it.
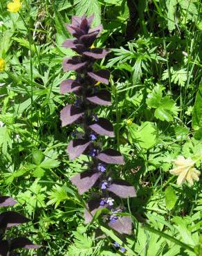
POLYGON ((192 127, 194 129, 199 129, 202 127, 202 79, 199 84, 199 90, 196 93, 196 100, 194 102, 192 127))

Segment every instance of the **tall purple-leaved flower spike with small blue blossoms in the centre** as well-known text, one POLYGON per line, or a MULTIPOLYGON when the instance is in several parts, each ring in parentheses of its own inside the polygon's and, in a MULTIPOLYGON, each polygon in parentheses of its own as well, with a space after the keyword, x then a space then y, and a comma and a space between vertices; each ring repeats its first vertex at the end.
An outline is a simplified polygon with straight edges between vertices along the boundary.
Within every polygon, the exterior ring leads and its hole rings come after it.
POLYGON ((128 216, 119 213, 124 208, 117 203, 118 197, 126 199, 136 196, 132 185, 121 179, 113 179, 110 165, 123 165, 124 158, 115 149, 102 149, 99 136, 113 137, 113 125, 106 118, 99 118, 95 109, 98 105, 110 106, 111 94, 105 89, 98 89, 98 83, 109 84, 109 71, 93 69, 96 60, 104 58, 109 52, 107 49, 95 48, 93 42, 102 32, 102 25, 91 28, 93 15, 89 18, 72 17, 72 23, 66 28, 75 39, 67 39, 63 46, 71 48, 78 55, 65 58, 64 71, 75 71, 75 80, 64 80, 60 86, 60 92, 75 93, 75 104, 68 104, 60 112, 62 127, 72 123, 80 125, 83 132, 74 134, 75 138, 68 144, 67 152, 70 160, 74 160, 81 154, 89 156, 87 170, 71 178, 73 185, 77 186, 79 194, 89 191, 92 187, 98 188, 98 192, 86 203, 88 210, 84 211, 85 223, 93 219, 95 212, 101 208, 107 208, 109 215, 104 215, 102 220, 113 230, 120 234, 131 234, 132 223, 128 216))

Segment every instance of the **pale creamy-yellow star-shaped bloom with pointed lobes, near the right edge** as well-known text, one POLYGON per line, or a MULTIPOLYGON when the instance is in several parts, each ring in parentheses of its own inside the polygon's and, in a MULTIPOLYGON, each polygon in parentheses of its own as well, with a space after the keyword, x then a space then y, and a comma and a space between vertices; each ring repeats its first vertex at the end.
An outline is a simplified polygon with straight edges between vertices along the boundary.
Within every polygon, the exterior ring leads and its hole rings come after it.
POLYGON ((199 170, 194 168, 195 161, 192 158, 188 157, 187 159, 184 156, 178 156, 174 161, 176 168, 170 170, 171 174, 178 176, 177 184, 182 185, 185 180, 191 185, 194 184, 194 181, 199 181, 199 170))

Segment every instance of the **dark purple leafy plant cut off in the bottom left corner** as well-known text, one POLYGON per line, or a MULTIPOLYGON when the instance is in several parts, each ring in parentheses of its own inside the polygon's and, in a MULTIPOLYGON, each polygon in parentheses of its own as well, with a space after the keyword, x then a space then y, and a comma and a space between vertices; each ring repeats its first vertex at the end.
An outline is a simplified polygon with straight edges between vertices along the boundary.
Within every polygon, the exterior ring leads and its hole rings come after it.
MULTIPOLYGON (((12 206, 15 205, 17 201, 12 199, 10 196, 0 196, 0 207, 12 206)), ((19 248, 26 249, 37 249, 40 246, 37 244, 33 244, 26 237, 17 237, 13 239, 9 239, 6 237, 6 229, 11 228, 13 226, 18 226, 22 223, 26 223, 30 221, 23 215, 14 211, 2 212, 0 214, 0 255, 1 256, 10 256, 12 255, 13 250, 19 248)))

